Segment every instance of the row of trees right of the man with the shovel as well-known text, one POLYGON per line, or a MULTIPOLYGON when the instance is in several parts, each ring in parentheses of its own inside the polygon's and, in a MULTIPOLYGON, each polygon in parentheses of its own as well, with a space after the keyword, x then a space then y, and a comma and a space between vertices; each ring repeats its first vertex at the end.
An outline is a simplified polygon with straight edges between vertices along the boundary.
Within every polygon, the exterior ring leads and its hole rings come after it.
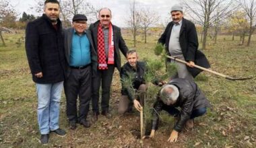
POLYGON ((243 42, 245 34, 249 32, 247 46, 250 45, 251 36, 255 30, 253 22, 256 14, 256 0, 183 0, 183 4, 191 20, 203 28, 201 32, 203 49, 206 46, 208 29, 215 28, 216 42, 218 31, 224 24, 230 25, 233 34, 243 34, 243 42), (247 21, 249 28, 247 28, 247 21))

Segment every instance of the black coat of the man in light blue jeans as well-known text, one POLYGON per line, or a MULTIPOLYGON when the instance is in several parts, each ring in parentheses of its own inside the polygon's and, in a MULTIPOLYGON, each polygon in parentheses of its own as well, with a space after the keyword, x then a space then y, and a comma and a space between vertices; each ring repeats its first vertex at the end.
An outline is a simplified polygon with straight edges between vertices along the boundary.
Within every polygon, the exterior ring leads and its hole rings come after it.
POLYGON ((57 83, 65 78, 65 55, 59 19, 57 28, 55 30, 45 14, 29 22, 26 27, 26 54, 36 83, 57 83), (39 72, 42 72, 42 78, 35 77, 39 72))

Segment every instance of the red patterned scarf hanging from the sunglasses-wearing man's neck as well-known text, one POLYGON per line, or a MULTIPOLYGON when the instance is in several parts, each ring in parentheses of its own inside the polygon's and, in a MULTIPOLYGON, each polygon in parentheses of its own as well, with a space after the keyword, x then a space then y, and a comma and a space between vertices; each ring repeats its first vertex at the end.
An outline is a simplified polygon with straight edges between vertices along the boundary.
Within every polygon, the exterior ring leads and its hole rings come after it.
POLYGON ((97 43, 98 43, 98 69, 108 69, 108 64, 114 64, 114 38, 113 38, 113 28, 112 24, 109 24, 108 28, 108 63, 106 63, 106 54, 105 54, 105 44, 104 44, 104 33, 102 30, 102 25, 98 25, 98 34, 97 34, 97 43))

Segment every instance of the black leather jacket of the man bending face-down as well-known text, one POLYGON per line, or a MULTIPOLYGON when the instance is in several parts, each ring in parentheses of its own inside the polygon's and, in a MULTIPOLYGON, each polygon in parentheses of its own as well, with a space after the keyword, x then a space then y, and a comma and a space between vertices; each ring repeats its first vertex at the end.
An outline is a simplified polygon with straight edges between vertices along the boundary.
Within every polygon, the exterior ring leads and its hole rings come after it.
MULTIPOLYGON (((181 108, 181 114, 179 114, 180 118, 174 126, 174 130, 180 132, 185 122, 189 120, 192 111, 199 108, 210 107, 210 102, 205 98, 204 94, 194 81, 178 78, 173 79, 168 84, 175 85, 179 89, 179 98, 177 102, 170 106, 181 108)), ((168 106, 162 102, 160 94, 158 94, 157 100, 154 103, 155 111, 152 112, 152 129, 158 128, 158 114, 162 108, 168 108, 168 106)))

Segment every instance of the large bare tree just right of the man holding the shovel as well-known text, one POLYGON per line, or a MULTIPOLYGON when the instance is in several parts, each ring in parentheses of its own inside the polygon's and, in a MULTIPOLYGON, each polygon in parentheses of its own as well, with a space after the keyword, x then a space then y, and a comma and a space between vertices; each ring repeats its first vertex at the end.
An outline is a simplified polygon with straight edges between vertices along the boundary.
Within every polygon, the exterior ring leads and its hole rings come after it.
POLYGON ((220 18, 228 17, 236 6, 232 5, 232 0, 183 0, 187 7, 187 14, 195 21, 195 23, 203 27, 202 48, 205 49, 207 41, 207 32, 214 22, 219 22, 220 18), (218 11, 217 11, 217 8, 218 11), (218 13, 218 15, 216 15, 218 13))

